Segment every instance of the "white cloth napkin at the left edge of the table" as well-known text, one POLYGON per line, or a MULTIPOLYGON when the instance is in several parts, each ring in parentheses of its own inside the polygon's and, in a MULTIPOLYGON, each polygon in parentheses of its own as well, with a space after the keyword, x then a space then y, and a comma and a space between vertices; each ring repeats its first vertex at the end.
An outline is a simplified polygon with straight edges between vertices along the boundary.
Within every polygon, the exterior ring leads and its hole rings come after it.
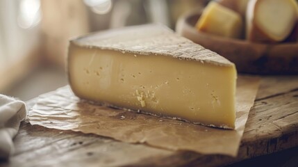
POLYGON ((13 138, 26 115, 24 102, 0 95, 0 159, 7 159, 13 154, 15 150, 13 138))

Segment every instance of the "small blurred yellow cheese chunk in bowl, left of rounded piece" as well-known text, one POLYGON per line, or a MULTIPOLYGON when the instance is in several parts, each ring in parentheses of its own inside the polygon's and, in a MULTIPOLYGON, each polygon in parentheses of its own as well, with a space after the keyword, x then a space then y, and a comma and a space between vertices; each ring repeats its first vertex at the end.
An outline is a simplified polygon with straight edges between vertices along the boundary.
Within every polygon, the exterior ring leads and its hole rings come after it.
POLYGON ((234 10, 211 1, 196 24, 197 30, 227 38, 240 38, 242 17, 234 10))

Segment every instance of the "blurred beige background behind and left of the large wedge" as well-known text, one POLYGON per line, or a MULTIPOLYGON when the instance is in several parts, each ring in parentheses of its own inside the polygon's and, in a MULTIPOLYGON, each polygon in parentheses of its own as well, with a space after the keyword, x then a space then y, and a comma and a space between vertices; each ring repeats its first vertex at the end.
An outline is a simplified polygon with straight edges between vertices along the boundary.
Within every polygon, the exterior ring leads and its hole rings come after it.
POLYGON ((207 0, 0 0, 0 93, 31 100, 67 84, 68 40, 176 20, 207 0))

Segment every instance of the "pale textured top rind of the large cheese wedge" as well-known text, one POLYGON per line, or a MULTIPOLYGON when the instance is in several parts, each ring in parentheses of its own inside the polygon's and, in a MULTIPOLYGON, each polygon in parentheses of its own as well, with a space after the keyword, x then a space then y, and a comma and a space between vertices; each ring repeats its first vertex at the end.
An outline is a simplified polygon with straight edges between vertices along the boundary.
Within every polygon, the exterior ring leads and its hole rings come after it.
POLYGON ((186 61, 200 61, 220 66, 234 64, 214 51, 183 38, 161 24, 129 26, 90 33, 70 40, 70 45, 121 51, 142 55, 162 55, 186 61))

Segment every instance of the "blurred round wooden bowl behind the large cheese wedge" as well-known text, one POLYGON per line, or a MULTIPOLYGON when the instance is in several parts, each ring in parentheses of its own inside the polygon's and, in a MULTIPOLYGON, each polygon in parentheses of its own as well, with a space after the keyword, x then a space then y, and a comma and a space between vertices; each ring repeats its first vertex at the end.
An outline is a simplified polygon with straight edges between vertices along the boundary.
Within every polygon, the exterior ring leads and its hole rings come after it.
POLYGON ((183 15, 176 24, 176 32, 229 59, 238 72, 298 74, 298 42, 263 44, 202 33, 194 27, 199 17, 199 12, 183 15))

